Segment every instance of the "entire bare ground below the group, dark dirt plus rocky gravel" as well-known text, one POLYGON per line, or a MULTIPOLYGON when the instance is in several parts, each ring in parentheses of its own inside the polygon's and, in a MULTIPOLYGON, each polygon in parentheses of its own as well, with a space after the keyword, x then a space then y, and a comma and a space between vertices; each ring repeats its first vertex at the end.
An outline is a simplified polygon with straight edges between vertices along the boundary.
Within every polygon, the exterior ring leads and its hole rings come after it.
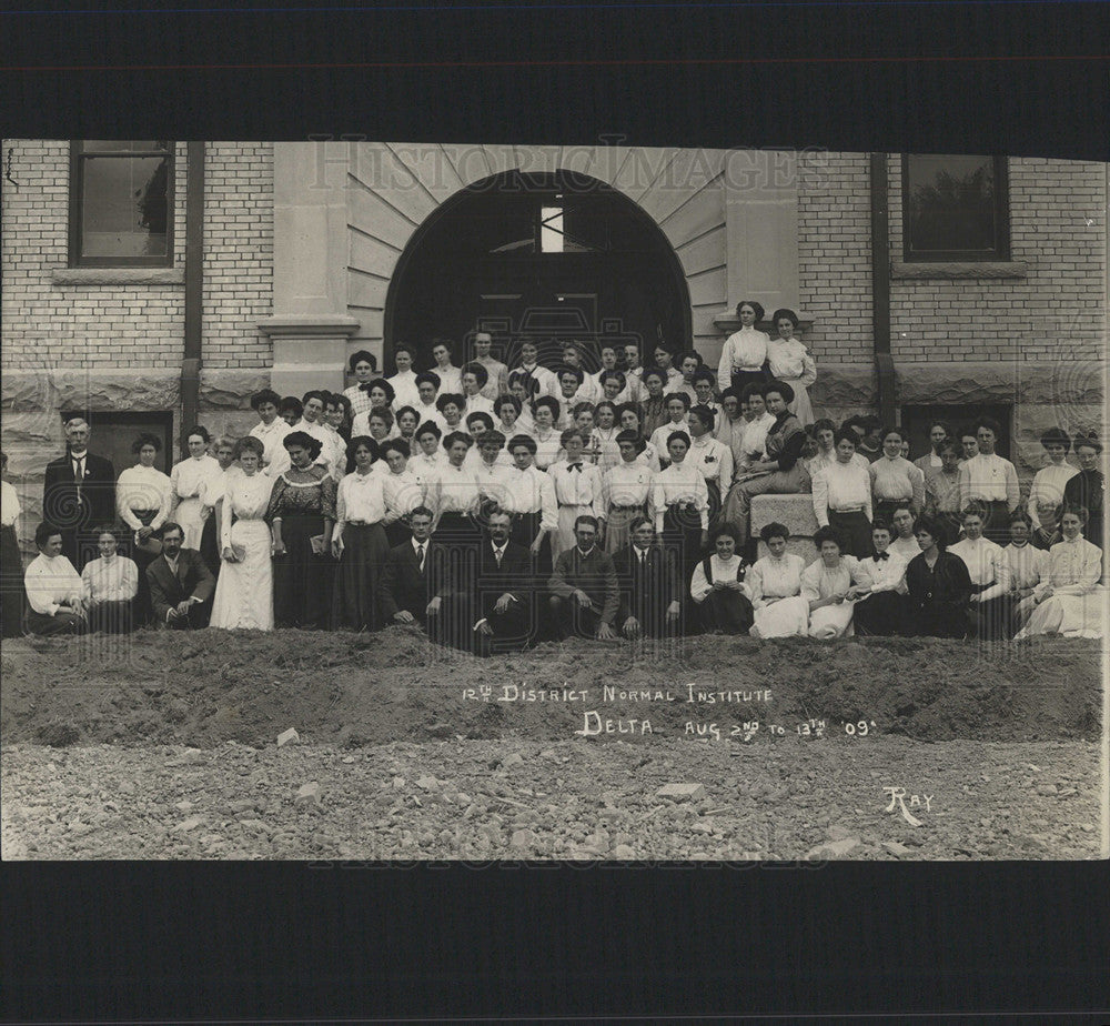
POLYGON ((18 641, 3 857, 1096 858, 1100 664, 1062 638, 18 641))

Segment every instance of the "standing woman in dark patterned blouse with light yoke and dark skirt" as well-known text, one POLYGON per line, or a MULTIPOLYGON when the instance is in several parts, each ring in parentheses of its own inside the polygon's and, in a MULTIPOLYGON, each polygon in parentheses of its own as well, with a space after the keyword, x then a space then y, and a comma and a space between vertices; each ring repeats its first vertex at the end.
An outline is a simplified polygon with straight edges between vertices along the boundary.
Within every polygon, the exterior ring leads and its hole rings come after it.
POLYGON ((323 630, 332 605, 335 479, 315 465, 323 445, 307 432, 291 432, 282 444, 292 465, 274 482, 265 517, 273 532, 274 623, 323 630))

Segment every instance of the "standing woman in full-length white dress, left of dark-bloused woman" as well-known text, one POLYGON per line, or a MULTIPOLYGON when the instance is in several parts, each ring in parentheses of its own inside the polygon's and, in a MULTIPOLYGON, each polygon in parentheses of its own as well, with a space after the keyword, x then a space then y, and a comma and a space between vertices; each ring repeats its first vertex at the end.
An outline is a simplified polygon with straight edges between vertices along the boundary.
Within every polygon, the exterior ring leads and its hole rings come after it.
POLYGON ((262 473, 262 443, 239 440, 235 459, 241 473, 224 479, 220 510, 220 554, 223 565, 212 601, 213 627, 272 631, 274 582, 271 534, 264 520, 274 479, 262 473))

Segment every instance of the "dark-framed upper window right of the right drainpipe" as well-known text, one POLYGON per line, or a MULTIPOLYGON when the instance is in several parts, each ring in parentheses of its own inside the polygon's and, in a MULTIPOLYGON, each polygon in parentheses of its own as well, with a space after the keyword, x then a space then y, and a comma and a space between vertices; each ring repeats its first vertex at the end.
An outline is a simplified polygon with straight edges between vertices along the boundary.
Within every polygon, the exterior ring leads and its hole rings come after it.
POLYGON ((906 261, 1010 259, 1005 157, 902 155, 906 261))

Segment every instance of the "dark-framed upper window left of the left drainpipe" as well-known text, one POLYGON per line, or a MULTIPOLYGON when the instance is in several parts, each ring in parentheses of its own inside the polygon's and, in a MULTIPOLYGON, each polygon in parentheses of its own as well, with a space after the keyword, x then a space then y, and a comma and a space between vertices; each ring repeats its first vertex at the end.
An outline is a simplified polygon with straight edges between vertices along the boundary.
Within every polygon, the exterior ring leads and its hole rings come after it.
POLYGON ((80 140, 70 149, 72 268, 173 265, 173 143, 80 140))

